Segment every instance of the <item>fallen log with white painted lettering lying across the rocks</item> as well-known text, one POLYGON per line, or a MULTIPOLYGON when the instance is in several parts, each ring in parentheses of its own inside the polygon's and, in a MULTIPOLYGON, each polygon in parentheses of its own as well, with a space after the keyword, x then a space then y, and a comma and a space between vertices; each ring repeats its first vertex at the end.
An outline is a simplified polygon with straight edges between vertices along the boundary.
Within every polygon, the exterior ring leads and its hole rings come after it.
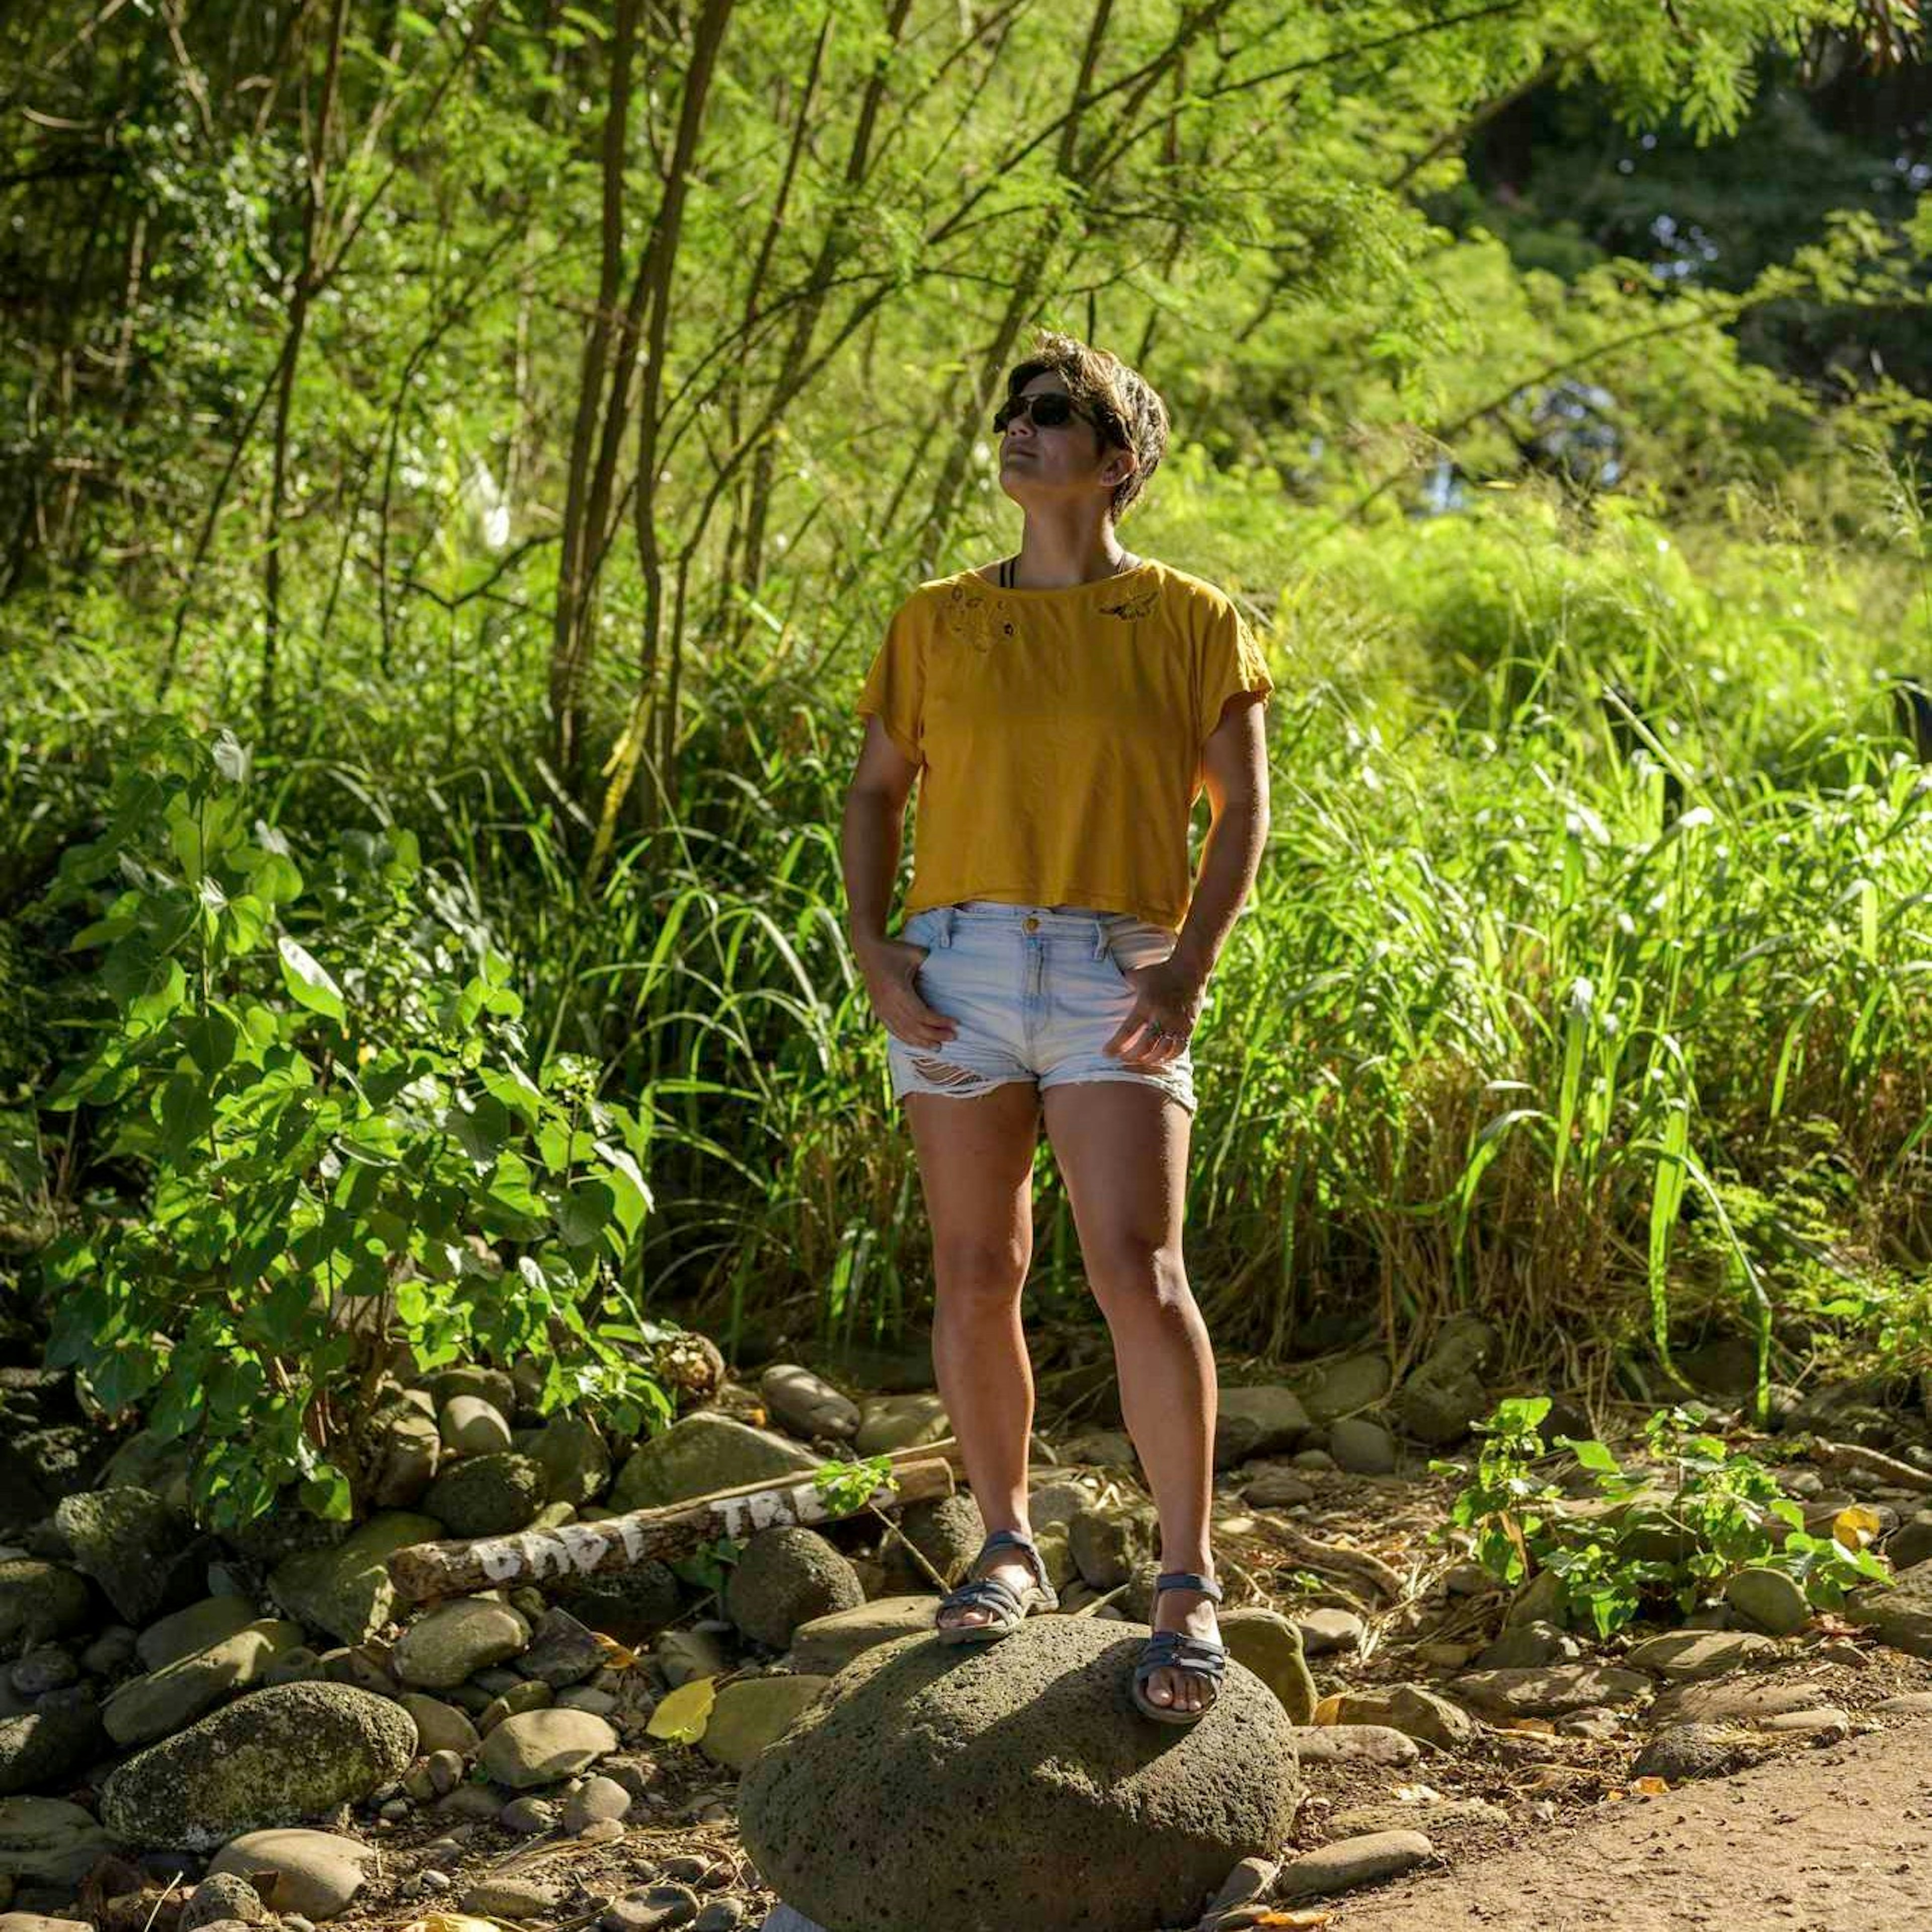
POLYGON ((895 1490, 877 1488, 854 1509, 833 1509, 811 1476, 792 1482, 744 1482, 732 1490, 694 1495, 661 1509, 634 1509, 601 1522, 566 1522, 556 1530, 518 1530, 514 1536, 468 1536, 408 1544, 388 1555, 396 1596, 425 1604, 439 1596, 498 1590, 545 1577, 593 1577, 636 1569, 653 1557, 688 1555, 719 1536, 750 1536, 775 1524, 833 1522, 860 1509, 916 1503, 958 1488, 958 1451, 949 1437, 889 1457, 895 1490))

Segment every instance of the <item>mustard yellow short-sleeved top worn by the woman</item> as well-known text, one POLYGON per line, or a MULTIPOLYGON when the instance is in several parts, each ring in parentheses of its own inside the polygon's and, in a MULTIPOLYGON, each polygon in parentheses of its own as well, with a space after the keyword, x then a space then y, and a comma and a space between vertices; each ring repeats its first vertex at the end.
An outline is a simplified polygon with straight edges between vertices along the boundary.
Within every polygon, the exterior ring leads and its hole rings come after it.
POLYGON ((995 898, 1179 931, 1202 746, 1229 697, 1273 688, 1227 593, 1161 562, 1057 589, 922 583, 854 707, 922 767, 906 916, 995 898))

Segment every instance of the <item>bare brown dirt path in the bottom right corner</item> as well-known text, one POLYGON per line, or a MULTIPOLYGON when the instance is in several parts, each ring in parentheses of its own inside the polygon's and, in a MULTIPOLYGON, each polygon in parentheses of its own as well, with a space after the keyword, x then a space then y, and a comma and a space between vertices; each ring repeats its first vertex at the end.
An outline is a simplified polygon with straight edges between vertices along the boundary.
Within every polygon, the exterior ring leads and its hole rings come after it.
POLYGON ((1899 1932, 1932 1884, 1932 1721, 1627 1799, 1337 1901, 1335 1932, 1899 1932))

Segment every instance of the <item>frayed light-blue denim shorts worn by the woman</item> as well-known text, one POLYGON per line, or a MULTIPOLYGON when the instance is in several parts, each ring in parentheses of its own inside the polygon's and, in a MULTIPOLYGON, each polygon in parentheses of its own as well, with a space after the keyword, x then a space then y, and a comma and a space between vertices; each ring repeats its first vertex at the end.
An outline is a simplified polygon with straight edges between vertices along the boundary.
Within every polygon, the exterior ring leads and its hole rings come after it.
POLYGON ((896 937, 927 949, 914 985, 956 1032, 937 1047, 910 1047, 887 1034, 895 1101, 906 1094, 966 1099, 1009 1080, 1032 1080, 1041 1090, 1130 1080, 1171 1094, 1194 1113, 1186 1047, 1165 1066, 1148 1068, 1101 1051, 1134 1010, 1134 983, 1121 968, 1167 958, 1180 943, 1169 927, 1130 912, 962 898, 914 912, 896 937), (922 1063, 956 1072, 941 1078, 922 1063))

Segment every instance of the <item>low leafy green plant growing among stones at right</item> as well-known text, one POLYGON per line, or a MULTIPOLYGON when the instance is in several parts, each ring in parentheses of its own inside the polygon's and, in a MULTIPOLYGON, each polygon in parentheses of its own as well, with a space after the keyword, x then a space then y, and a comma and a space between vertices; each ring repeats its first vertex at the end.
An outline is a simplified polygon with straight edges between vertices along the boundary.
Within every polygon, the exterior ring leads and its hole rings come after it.
MULTIPOLYGON (((1482 1447, 1472 1480, 1457 1495, 1449 1524, 1470 1532, 1476 1561, 1509 1586, 1548 1571, 1561 1586, 1559 1613, 1598 1636, 1673 1605, 1689 1613, 1741 1569, 1789 1575, 1820 1609, 1845 1602, 1857 1582, 1884 1582, 1888 1565, 1864 1548, 1812 1536, 1803 1509, 1756 1459, 1702 1434, 1681 1408, 1644 1424, 1644 1466, 1625 1468, 1600 1441, 1559 1435, 1571 1472, 1582 1472, 1578 1501, 1544 1459, 1540 1424, 1548 1397, 1499 1403, 1478 1424, 1482 1447)), ((1470 1476, 1466 1464, 1432 1468, 1470 1476)), ((1447 1534, 1447 1532, 1445 1532, 1447 1534)))

